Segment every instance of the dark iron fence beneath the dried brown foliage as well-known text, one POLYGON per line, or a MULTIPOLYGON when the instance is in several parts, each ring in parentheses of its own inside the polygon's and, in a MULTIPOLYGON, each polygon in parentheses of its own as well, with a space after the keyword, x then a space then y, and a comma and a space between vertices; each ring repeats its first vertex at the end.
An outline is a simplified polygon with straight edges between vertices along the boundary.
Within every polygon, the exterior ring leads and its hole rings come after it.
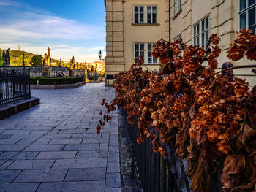
MULTIPOLYGON (((137 139, 140 137, 140 133, 137 123, 134 125, 127 123, 125 110, 122 110, 122 115, 124 115, 124 127, 128 130, 132 176, 135 178, 137 191, 192 192, 189 188, 191 180, 186 174, 187 161, 177 158, 175 149, 170 145, 165 145, 167 158, 153 152, 151 140, 148 138, 144 143, 138 145, 137 139)), ((222 191, 220 174, 216 174, 213 178, 212 192, 222 191)))

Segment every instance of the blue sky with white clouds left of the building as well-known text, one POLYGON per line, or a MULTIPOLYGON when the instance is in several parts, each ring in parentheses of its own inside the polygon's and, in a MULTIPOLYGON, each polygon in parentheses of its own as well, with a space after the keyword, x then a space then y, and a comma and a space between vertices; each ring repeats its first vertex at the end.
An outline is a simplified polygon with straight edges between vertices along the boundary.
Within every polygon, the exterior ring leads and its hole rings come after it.
POLYGON ((0 48, 76 62, 105 57, 104 0, 0 0, 0 48))

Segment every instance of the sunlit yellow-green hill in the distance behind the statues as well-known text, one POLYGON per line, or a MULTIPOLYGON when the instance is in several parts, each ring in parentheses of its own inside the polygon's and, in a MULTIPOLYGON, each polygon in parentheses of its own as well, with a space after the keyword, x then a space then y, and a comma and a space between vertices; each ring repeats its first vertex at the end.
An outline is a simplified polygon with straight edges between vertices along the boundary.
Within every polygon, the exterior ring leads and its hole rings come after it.
MULTIPOLYGON (((5 51, 5 50, 4 50, 5 51)), ((3 54, 3 50, 0 48, 0 53, 1 55, 3 54)), ((36 55, 34 53, 29 53, 26 51, 19 51, 19 50, 9 50, 9 55, 10 55, 10 64, 12 66, 22 66, 23 65, 23 55, 22 53, 24 53, 24 61, 26 66, 30 66, 30 61, 31 58, 36 55)), ((43 54, 42 54, 43 56, 43 54)), ((52 63, 56 63, 59 64, 59 60, 56 59, 52 59, 52 63)))

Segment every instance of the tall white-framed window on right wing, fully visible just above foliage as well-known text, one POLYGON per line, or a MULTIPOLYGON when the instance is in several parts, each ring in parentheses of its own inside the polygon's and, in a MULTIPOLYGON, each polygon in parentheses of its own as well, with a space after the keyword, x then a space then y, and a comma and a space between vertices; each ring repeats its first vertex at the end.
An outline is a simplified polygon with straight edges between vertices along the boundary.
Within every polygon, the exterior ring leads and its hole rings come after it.
POLYGON ((194 46, 201 45, 206 49, 209 39, 209 17, 204 18, 194 26, 194 46), (200 30, 201 27, 201 30, 200 30), (200 32, 201 31, 201 32, 200 32))

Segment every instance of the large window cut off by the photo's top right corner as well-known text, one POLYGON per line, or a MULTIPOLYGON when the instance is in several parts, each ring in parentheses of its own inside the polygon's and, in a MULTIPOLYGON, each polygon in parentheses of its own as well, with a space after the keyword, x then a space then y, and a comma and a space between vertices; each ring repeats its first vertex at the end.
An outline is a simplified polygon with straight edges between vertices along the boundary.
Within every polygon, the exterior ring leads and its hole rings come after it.
POLYGON ((240 0, 239 3, 240 29, 252 29, 255 34, 256 0, 240 0))

